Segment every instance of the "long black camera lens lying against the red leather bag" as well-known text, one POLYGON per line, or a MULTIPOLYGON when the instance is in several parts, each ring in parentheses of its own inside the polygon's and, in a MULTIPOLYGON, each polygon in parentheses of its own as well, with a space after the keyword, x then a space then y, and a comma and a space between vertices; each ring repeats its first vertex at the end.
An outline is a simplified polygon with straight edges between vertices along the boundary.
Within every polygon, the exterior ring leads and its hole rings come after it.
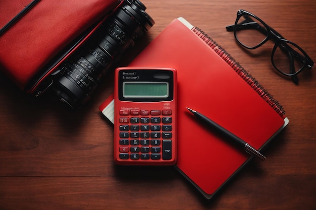
POLYGON ((154 24, 138 0, 123 5, 76 52, 59 66, 52 90, 61 101, 78 108, 124 51, 154 24))

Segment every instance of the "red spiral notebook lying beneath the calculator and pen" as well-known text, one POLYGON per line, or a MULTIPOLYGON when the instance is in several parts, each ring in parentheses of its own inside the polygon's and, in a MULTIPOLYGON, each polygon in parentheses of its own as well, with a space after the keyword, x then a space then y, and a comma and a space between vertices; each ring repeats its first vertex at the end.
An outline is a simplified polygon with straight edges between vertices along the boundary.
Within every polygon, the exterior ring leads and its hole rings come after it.
MULTIPOLYGON (((208 199, 251 156, 201 124, 186 107, 204 114, 257 150, 288 124, 282 106, 221 46, 183 18, 167 26, 130 66, 177 70, 176 168, 208 199)), ((106 112, 111 113, 110 101, 99 108, 106 116, 106 112)))

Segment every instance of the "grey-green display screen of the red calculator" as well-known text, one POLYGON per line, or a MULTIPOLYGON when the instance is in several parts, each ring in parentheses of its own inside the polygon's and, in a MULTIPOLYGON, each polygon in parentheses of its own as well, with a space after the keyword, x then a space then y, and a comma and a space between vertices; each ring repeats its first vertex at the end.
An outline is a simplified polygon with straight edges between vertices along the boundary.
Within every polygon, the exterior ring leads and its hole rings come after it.
POLYGON ((168 98, 168 82, 123 82, 124 98, 168 98))

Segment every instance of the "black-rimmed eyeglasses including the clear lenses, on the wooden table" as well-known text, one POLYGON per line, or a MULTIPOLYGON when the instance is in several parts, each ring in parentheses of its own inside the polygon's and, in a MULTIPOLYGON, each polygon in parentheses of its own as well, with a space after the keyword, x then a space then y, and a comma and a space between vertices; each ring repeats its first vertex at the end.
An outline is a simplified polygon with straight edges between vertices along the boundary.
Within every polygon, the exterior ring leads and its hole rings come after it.
POLYGON ((247 49, 255 49, 273 40, 275 45, 271 53, 271 61, 279 73, 292 78, 298 84, 297 74, 305 67, 312 68, 314 62, 297 44, 286 40, 276 30, 268 26, 255 15, 239 10, 234 25, 226 27, 227 31, 234 31, 235 39, 247 49))

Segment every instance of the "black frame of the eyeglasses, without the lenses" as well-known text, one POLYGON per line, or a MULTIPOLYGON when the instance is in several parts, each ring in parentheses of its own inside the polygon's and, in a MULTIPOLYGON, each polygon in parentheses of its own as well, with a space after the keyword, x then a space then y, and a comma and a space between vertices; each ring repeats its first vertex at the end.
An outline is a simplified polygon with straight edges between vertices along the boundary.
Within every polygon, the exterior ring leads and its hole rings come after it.
MULTIPOLYGON (((255 25, 254 25, 255 26, 255 25)), ((274 68, 279 72, 281 73, 282 75, 285 75, 285 76, 289 76, 292 78, 293 82, 295 84, 298 84, 298 78, 297 78, 297 74, 299 74, 300 72, 302 72, 302 70, 305 68, 305 67, 309 67, 309 68, 312 68, 313 67, 313 64, 314 62, 311 60, 311 58, 307 55, 307 53, 300 47, 298 46, 297 44, 295 44, 294 42, 292 41, 289 41, 287 39, 285 39, 280 33, 278 33, 276 30, 274 30, 272 27, 270 27, 268 24, 266 24, 264 21, 262 21, 260 18, 258 18, 257 16, 253 15, 252 13, 250 12, 247 12, 245 10, 238 10, 237 12, 237 18, 236 18, 236 21, 235 21, 235 24, 234 25, 229 25, 229 26, 226 26, 226 30, 227 31, 234 31, 234 37, 235 39, 237 40, 237 42, 239 44, 241 44, 243 47, 247 48, 247 49, 256 49, 260 46, 262 46, 263 44, 265 44, 267 41, 269 40, 274 40, 275 41, 275 45, 272 49, 272 52, 271 52, 271 62, 274 66, 274 68), (241 23, 238 24, 238 21, 241 17, 252 17, 256 20, 258 20, 262 25, 264 25, 265 28, 262 28, 258 25, 257 22, 255 22, 254 20, 252 20, 250 18, 250 20, 247 18, 245 18, 246 22, 243 21, 241 23), (243 44, 237 37, 237 28, 239 28, 239 30, 243 30, 243 28, 240 29, 240 27, 237 27, 238 25, 242 24, 243 26, 249 26, 249 24, 256 24, 257 26, 254 28, 256 30, 258 30, 260 33, 264 34, 266 36, 266 38, 264 40, 262 40, 259 44, 255 45, 254 47, 248 47, 247 45, 243 44), (261 29, 261 30, 260 30, 261 29), (268 30, 266 30, 268 29, 268 30), (264 30, 264 31, 263 31, 264 30), (303 55, 305 57, 303 57, 301 54, 297 53, 293 48, 291 48, 287 43, 295 46, 298 50, 300 50, 303 55), (298 71, 296 71, 295 73, 292 73, 292 74, 287 74, 283 71, 281 71, 275 64, 274 62, 274 53, 276 52, 277 48, 280 47, 281 50, 287 50, 289 52, 289 58, 291 59, 291 71, 293 70, 293 67, 294 67, 294 60, 293 59, 300 59, 302 62, 303 62, 303 65, 300 67, 300 69, 298 69, 298 71), (282 48, 283 47, 283 48, 282 48), (290 53, 292 52, 292 53, 290 53), (294 56, 294 57, 293 57, 294 56), (299 58, 300 57, 300 58, 299 58)), ((295 69, 294 69, 295 71, 295 69)))

